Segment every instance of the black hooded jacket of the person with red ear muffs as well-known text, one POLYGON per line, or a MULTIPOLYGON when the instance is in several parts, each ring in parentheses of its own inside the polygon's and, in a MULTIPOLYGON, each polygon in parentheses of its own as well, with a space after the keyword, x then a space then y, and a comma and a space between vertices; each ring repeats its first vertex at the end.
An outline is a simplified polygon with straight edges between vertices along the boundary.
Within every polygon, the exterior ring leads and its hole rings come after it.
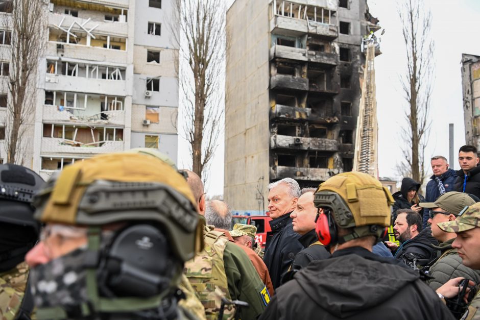
POLYGON ((354 247, 312 261, 277 289, 260 319, 454 319, 417 272, 354 247))

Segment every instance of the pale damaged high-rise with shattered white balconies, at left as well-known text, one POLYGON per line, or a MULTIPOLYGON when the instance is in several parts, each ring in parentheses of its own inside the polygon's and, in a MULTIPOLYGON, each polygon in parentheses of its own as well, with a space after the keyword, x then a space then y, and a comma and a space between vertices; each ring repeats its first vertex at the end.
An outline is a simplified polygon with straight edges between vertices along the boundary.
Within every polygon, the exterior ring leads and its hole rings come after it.
POLYGON ((151 147, 176 162, 178 48, 167 25, 170 2, 50 0, 45 10, 27 151, 32 168, 47 178, 75 161, 131 147, 151 147))

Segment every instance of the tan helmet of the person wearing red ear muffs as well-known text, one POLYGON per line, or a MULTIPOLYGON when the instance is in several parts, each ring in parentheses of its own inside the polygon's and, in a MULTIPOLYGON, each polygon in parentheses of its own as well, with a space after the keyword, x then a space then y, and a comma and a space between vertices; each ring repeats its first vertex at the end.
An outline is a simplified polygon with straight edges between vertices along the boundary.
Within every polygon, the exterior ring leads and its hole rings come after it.
POLYGON ((392 220, 390 191, 364 173, 347 172, 331 177, 315 191, 317 208, 329 209, 340 228, 353 228, 344 241, 366 235, 380 237, 392 220))

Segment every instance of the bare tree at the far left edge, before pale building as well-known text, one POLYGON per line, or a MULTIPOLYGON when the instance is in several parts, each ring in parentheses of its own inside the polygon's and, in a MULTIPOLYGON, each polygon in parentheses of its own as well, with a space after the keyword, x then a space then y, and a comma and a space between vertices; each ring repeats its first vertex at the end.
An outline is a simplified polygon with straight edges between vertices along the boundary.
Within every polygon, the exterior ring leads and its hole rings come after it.
POLYGON ((10 60, 5 67, 8 84, 5 126, 7 162, 22 164, 29 143, 27 132, 33 128, 36 104, 38 62, 45 46, 46 2, 43 0, 15 0, 3 3, 2 19, 9 26, 10 50, 2 60, 10 60), (11 36, 10 36, 11 35, 11 36), (7 59, 6 59, 7 58, 7 59))

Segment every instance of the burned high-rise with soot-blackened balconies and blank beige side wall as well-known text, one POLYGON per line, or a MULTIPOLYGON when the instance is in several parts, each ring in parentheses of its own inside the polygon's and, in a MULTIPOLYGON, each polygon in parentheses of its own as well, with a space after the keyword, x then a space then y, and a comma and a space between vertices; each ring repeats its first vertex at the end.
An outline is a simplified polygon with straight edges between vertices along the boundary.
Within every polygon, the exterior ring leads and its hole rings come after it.
POLYGON ((227 12, 225 200, 263 213, 270 182, 353 167, 366 0, 236 0, 227 12))

